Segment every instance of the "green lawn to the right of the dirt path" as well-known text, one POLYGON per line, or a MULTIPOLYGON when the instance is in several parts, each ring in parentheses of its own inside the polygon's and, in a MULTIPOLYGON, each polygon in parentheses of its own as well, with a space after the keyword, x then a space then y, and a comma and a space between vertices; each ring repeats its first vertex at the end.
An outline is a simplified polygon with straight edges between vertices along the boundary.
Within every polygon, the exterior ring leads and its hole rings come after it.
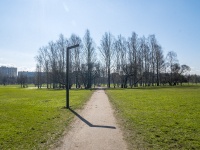
POLYGON ((129 149, 200 149, 200 87, 107 90, 129 149))

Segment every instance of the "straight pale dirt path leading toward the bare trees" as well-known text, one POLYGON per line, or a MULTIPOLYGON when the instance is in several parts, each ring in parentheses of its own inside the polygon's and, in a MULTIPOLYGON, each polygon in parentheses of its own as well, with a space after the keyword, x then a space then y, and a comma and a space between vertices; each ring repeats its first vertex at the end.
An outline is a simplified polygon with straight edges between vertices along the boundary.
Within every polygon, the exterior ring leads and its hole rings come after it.
POLYGON ((127 149, 104 90, 95 91, 81 113, 71 112, 76 120, 57 150, 127 149))

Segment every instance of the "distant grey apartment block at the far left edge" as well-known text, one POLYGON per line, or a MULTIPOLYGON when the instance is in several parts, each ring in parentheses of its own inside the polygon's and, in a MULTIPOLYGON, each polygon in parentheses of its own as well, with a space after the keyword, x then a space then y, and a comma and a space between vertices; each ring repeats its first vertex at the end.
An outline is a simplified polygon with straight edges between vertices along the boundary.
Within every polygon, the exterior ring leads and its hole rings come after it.
POLYGON ((0 75, 4 77, 17 77, 17 68, 1 66, 0 75))

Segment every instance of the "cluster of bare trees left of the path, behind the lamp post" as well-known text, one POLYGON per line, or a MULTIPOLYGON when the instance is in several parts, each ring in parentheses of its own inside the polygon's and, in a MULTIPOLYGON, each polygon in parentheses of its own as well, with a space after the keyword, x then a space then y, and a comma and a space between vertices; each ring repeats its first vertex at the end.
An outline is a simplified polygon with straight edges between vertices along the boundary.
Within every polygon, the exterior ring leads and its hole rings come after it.
POLYGON ((60 35, 58 41, 49 42, 47 46, 39 49, 36 56, 38 87, 41 87, 42 83, 46 83, 47 88, 65 87, 66 47, 75 44, 80 46, 70 51, 70 85, 75 84, 76 88, 92 87, 92 81, 97 78, 99 72, 99 64, 96 63, 95 46, 89 30, 83 40, 75 34, 69 39, 60 35))

